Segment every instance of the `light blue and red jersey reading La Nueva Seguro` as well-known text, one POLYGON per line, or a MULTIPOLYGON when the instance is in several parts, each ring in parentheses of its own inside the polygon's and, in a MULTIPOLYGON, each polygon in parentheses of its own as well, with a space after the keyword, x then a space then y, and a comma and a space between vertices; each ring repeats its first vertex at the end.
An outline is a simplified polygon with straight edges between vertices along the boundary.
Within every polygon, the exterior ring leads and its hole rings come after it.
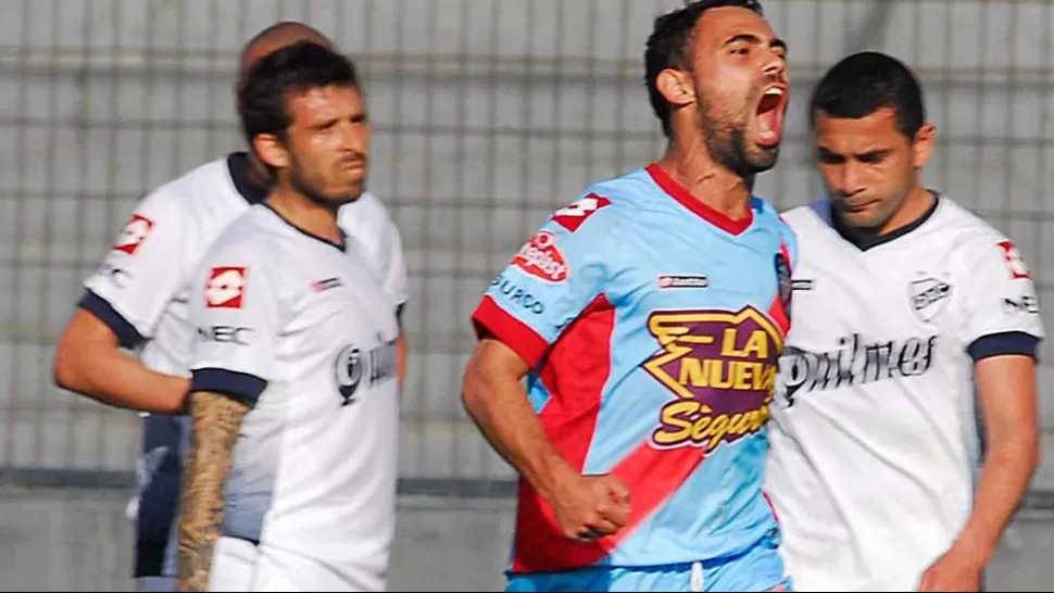
POLYGON ((652 164, 557 211, 490 285, 473 321, 531 365, 555 447, 630 489, 629 523, 584 543, 522 480, 511 572, 730 558, 778 532, 762 474, 796 244, 750 206, 732 220, 652 164))

